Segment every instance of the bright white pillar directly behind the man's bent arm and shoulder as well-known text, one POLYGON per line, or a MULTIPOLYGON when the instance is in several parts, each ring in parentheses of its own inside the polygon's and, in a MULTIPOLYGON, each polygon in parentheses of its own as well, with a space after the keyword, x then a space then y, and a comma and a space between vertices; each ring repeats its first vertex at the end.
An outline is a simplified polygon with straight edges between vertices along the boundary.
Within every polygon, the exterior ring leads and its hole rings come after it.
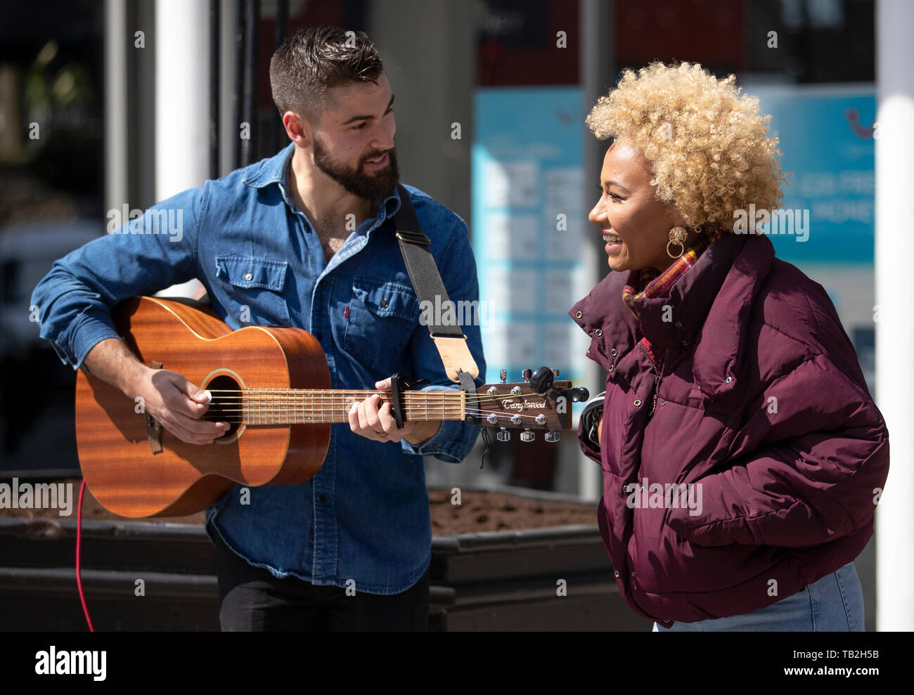
MULTIPOLYGON (((209 3, 155 3, 155 199, 203 185, 209 163, 209 3)), ((195 296, 197 281, 161 294, 195 296)))

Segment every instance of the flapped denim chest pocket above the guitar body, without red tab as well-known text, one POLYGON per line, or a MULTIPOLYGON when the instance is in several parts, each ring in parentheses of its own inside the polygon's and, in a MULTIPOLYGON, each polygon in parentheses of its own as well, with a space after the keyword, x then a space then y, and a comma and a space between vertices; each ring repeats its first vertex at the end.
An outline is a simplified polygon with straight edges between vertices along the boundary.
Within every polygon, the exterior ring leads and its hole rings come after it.
POLYGON ((285 276, 288 262, 276 258, 217 256, 216 277, 234 304, 239 325, 291 326, 286 303, 285 276))

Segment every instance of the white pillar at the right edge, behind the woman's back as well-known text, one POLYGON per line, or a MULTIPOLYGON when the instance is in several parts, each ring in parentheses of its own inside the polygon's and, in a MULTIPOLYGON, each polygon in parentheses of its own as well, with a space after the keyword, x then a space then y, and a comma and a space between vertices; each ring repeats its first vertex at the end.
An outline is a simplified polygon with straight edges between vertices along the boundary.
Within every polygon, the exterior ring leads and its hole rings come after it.
POLYGON ((914 3, 877 4, 876 395, 891 466, 877 507, 877 629, 914 629, 914 3))

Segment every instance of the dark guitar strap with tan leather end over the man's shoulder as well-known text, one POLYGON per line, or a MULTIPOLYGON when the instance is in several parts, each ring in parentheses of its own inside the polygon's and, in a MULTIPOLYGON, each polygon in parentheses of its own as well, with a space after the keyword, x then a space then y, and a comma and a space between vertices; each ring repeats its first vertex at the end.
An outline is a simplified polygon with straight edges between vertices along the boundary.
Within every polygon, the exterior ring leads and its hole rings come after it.
MULTIPOLYGON (((467 382, 473 384, 473 379, 479 375, 479 367, 473 360, 470 348, 466 344, 466 336, 463 335, 457 321, 456 307, 452 305, 448 299, 448 292, 444 289, 441 273, 438 272, 438 266, 435 265, 435 259, 429 250, 431 239, 422 232, 409 191, 398 184, 397 192, 400 207, 394 216, 394 224, 397 226, 400 252, 403 254, 409 279, 420 303, 428 302, 425 306, 432 308, 432 311, 423 311, 423 315, 430 318, 428 327, 431 340, 438 348, 448 378, 465 387, 467 382), (446 308, 451 308, 452 311, 446 311, 446 308), (449 317, 453 317, 453 322, 448 321, 449 317), (461 373, 469 375, 470 378, 462 378, 461 373)), ((475 389, 471 393, 474 394, 475 389)))

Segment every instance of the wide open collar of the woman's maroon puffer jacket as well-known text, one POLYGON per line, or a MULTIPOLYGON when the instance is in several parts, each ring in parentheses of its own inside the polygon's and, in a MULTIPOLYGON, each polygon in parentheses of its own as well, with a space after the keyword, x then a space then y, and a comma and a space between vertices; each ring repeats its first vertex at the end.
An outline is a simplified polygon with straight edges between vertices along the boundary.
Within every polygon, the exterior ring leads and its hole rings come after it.
POLYGON ((749 312, 774 261, 767 237, 728 233, 707 247, 671 288, 669 297, 622 301, 640 273, 611 272, 569 314, 593 337, 589 356, 615 378, 611 365, 646 337, 654 353, 694 350, 696 398, 727 394, 737 385, 749 312), (594 353, 594 350, 597 352, 594 353))

